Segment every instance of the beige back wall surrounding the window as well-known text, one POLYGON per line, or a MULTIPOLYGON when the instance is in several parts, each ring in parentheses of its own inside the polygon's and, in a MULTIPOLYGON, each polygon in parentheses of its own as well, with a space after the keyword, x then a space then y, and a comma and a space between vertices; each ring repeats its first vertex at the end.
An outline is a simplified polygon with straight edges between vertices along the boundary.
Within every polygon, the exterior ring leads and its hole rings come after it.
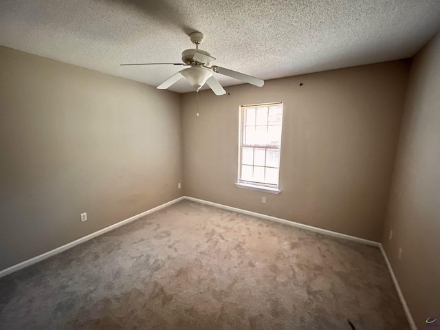
POLYGON ((380 241, 409 61, 182 96, 190 197, 380 241), (300 87, 303 83, 303 87, 300 87), (239 189, 239 105, 284 102, 279 195, 239 189), (261 203, 261 197, 267 203, 261 203))

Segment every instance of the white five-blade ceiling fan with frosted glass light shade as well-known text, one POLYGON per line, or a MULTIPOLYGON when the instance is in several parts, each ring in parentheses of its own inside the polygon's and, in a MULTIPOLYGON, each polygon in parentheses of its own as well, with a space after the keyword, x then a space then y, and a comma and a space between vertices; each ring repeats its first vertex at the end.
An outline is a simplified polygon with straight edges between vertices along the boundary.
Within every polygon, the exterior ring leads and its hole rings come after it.
POLYGON ((203 43, 203 34, 201 32, 192 32, 190 39, 195 44, 195 48, 184 50, 181 53, 181 61, 183 63, 129 63, 121 65, 184 65, 188 67, 165 80, 164 83, 157 86, 157 89, 167 89, 177 83, 182 77, 185 77, 196 91, 199 91, 203 85, 208 84, 215 94, 223 95, 226 91, 221 87, 217 79, 214 78, 214 72, 258 87, 264 85, 264 80, 248 76, 248 74, 242 74, 224 67, 217 67, 217 65, 210 66, 211 62, 215 61, 215 58, 208 52, 199 50, 199 45, 203 43))

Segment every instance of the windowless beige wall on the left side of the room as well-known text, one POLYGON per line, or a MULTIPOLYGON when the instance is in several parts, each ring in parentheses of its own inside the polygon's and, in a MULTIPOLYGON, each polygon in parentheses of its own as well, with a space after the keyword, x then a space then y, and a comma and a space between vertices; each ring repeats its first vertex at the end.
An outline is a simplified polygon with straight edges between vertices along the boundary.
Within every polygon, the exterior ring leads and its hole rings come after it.
POLYGON ((0 270, 182 195, 179 94, 6 47, 0 63, 0 270))

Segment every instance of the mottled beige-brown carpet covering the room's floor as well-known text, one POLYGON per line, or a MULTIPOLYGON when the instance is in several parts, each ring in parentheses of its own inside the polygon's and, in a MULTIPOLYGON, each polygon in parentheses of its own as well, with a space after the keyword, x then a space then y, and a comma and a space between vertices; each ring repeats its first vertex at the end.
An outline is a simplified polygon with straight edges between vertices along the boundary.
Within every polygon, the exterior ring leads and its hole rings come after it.
POLYGON ((410 329, 380 250, 191 201, 0 278, 0 329, 410 329))

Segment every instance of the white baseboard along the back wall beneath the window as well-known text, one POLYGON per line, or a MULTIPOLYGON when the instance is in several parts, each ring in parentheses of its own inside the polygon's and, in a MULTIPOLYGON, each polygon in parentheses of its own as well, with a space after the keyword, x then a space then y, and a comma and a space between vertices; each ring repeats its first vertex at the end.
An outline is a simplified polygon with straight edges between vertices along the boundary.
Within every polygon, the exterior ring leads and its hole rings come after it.
POLYGON ((227 206, 227 205, 223 205, 223 204, 219 204, 219 203, 213 203, 212 201, 204 201, 203 199, 198 199, 198 198, 188 197, 188 196, 185 196, 184 199, 188 199, 190 201, 197 201, 199 203, 207 204, 210 206, 216 206, 217 208, 223 208, 225 210, 230 210, 233 212, 239 212, 239 213, 243 213, 243 214, 252 215, 252 217, 257 217, 257 218, 261 218, 261 219, 284 223, 285 225, 292 225, 297 228, 309 230, 311 232, 318 232, 320 234, 325 234, 327 236, 334 236, 334 237, 339 237, 340 239, 348 239, 349 241, 355 241, 355 242, 364 243, 367 245, 373 245, 373 246, 376 246, 377 248, 379 248, 381 245, 379 242, 370 241, 368 239, 361 239, 360 237, 351 236, 351 235, 347 235, 347 234, 341 234, 340 232, 332 232, 331 230, 322 229, 322 228, 314 227, 311 225, 305 225, 303 223, 289 221, 289 220, 285 220, 285 219, 281 219, 281 218, 277 218, 277 217, 272 217, 271 215, 266 215, 266 214, 261 214, 261 213, 252 212, 252 211, 248 211, 248 210, 243 210, 241 208, 233 208, 232 206, 227 206))

